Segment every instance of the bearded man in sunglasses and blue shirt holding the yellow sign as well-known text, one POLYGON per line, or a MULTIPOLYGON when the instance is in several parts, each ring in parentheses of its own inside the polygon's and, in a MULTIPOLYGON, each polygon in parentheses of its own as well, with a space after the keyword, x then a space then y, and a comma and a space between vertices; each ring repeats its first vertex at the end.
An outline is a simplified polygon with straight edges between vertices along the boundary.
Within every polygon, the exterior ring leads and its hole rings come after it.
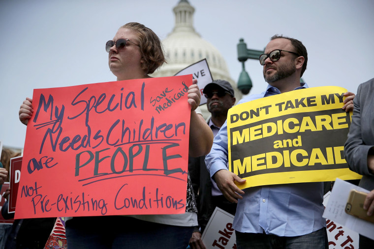
MULTIPOLYGON (((260 56, 266 91, 250 95, 238 104, 251 100, 307 88, 300 83, 306 70, 308 54, 298 40, 275 35, 260 56)), ((353 109, 353 93, 345 93, 343 109, 353 109)), ((240 190, 234 182, 243 183, 227 170, 227 125, 215 137, 205 162, 222 194, 238 203, 233 227, 238 249, 323 249, 328 248, 324 210, 323 183, 295 183, 251 187, 240 190)))

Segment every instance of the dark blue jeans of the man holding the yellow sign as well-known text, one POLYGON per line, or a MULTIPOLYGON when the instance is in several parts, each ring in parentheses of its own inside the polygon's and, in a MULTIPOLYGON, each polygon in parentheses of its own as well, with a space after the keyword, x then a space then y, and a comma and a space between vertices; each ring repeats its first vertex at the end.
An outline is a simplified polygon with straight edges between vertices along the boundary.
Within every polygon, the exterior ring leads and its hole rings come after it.
POLYGON ((295 236, 280 237, 265 233, 241 233, 235 231, 238 249, 328 249, 326 228, 295 236))

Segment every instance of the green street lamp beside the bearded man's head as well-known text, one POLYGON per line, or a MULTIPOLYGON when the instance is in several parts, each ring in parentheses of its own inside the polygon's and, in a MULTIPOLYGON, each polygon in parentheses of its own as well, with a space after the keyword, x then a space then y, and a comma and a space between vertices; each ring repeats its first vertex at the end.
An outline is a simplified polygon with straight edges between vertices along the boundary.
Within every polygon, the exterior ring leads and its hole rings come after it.
POLYGON ((260 55, 264 54, 263 50, 253 50, 247 49, 247 43, 244 42, 243 38, 239 39, 239 43, 237 45, 238 48, 238 60, 242 62, 242 72, 240 73, 239 80, 238 80, 238 89, 243 94, 248 94, 250 88, 252 88, 252 81, 249 78, 249 75, 246 71, 244 62, 247 59, 259 59, 260 55))

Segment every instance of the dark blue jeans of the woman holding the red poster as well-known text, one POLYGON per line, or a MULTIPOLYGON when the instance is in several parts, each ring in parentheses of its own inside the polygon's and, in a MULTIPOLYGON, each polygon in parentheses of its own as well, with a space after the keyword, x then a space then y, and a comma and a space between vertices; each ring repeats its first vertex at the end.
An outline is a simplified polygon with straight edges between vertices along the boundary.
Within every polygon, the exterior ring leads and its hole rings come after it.
POLYGON ((65 230, 68 249, 186 249, 193 227, 101 216, 74 217, 65 230))

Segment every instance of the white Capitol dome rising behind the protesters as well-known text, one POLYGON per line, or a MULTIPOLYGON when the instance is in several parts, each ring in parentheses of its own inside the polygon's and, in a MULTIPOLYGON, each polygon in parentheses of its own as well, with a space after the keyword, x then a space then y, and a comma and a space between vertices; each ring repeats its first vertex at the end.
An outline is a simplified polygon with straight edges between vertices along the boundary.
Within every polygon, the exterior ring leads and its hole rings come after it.
MULTIPOLYGON (((221 79, 231 83, 236 99, 241 99, 242 94, 236 88, 235 81, 230 78, 226 62, 218 49, 201 38, 200 34, 193 28, 194 7, 187 0, 180 0, 173 11, 175 27, 162 40, 168 63, 162 65, 152 76, 173 76, 187 66, 206 58, 213 80, 221 79)), ((200 108, 203 111, 203 116, 207 118, 210 113, 207 111, 206 105, 202 105, 200 108)))

